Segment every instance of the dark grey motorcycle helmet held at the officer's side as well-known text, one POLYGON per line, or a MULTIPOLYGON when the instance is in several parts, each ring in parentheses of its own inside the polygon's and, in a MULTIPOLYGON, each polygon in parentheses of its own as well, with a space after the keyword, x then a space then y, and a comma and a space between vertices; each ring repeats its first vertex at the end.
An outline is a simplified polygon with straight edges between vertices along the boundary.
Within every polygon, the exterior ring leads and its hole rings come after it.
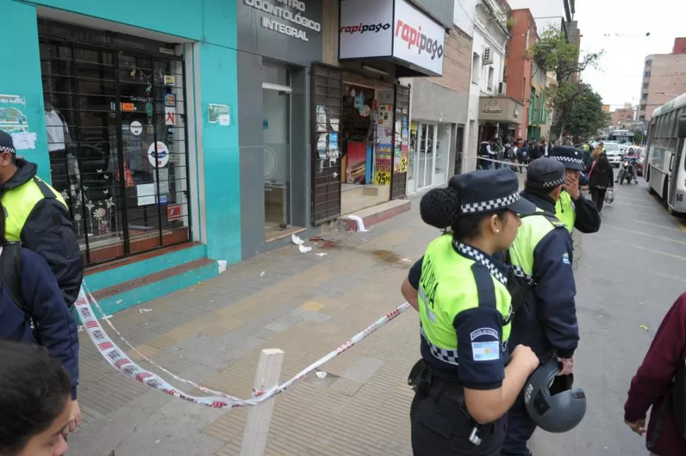
POLYGON ((527 380, 524 403, 531 419, 544 431, 563 433, 581 423, 586 414, 586 394, 572 389, 572 375, 560 375, 559 361, 541 364, 527 380))

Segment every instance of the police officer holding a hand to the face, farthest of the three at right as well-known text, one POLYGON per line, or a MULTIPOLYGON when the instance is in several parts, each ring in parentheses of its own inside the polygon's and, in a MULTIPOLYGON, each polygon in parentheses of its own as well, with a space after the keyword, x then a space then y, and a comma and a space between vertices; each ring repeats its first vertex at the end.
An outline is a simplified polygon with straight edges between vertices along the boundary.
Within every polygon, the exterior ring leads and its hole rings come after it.
POLYGON ((595 204, 586 199, 579 189, 579 177, 583 168, 582 152, 574 146, 555 146, 550 157, 559 160, 564 165, 566 183, 564 192, 560 194, 555 204, 554 214, 569 230, 574 228, 581 233, 596 233, 600 230, 600 214, 595 204))

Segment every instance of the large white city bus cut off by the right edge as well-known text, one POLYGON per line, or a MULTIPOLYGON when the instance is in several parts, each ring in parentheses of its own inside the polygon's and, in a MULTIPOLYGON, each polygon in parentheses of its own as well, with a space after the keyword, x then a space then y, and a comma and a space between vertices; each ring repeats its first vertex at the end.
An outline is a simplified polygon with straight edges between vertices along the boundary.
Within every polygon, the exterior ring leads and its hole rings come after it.
POLYGON ((653 111, 648 127, 644 173, 648 191, 657 194, 670 214, 686 214, 686 164, 679 120, 686 115, 686 93, 653 111))

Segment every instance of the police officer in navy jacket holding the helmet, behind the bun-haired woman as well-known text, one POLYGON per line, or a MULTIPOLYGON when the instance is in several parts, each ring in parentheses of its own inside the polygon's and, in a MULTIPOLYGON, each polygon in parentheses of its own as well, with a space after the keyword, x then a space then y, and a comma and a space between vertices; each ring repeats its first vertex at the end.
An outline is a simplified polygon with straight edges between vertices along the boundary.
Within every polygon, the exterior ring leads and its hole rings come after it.
MULTIPOLYGON (((554 217, 565 182, 565 168, 552 158, 530 163, 522 197, 542 215, 522 217, 522 226, 508 250, 509 262, 523 288, 523 305, 516 309, 509 346, 530 346, 541 362, 561 358, 562 375, 571 373, 579 342, 572 271, 571 235, 554 217)), ((507 438, 501 455, 528 456, 526 443, 536 424, 523 397, 507 415, 507 438)))

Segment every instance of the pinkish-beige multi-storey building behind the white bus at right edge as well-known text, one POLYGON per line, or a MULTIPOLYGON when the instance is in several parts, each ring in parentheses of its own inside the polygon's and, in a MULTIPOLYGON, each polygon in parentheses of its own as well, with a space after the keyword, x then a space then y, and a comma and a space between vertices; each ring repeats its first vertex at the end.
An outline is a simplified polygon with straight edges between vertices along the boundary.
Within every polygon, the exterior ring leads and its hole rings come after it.
POLYGON ((686 49, 683 46, 685 41, 685 38, 677 38, 674 41, 673 51, 681 52, 652 54, 646 57, 641 81, 639 120, 648 122, 654 110, 686 92, 686 49))

